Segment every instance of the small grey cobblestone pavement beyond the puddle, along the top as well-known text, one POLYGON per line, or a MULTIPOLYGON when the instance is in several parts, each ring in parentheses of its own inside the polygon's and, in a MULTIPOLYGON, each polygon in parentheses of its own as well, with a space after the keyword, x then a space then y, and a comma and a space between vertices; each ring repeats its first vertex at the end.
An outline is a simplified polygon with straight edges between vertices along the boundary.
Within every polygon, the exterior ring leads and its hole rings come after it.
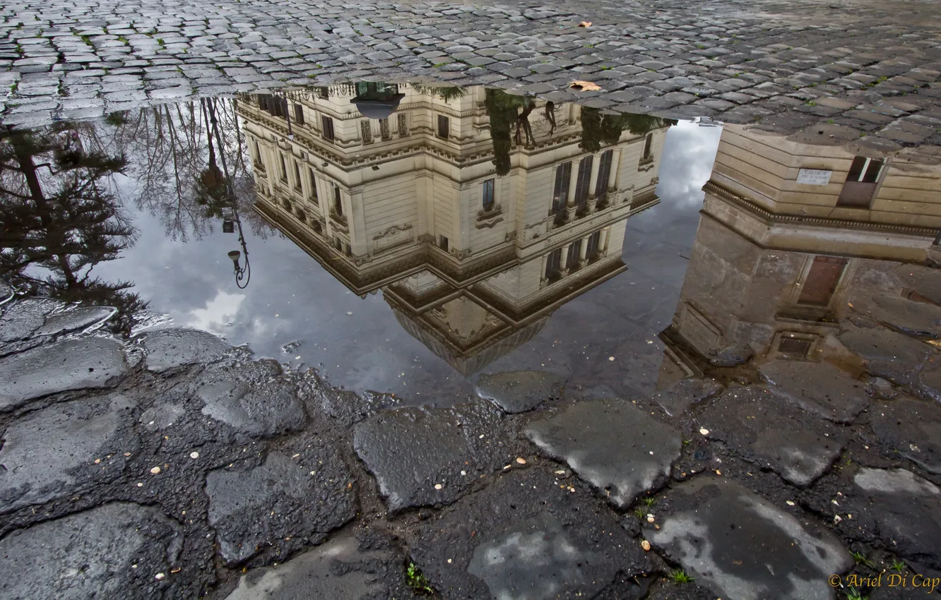
MULTIPOLYGON (((645 87, 638 94, 646 98, 643 106, 664 116, 747 122, 800 109, 811 120, 842 117, 862 131, 888 130, 886 141, 902 145, 930 133, 930 125, 913 130, 895 123, 941 93, 941 22, 927 4, 863 0, 845 10, 809 0, 725 0, 708 13, 697 8, 679 0, 628 2, 602 14, 593 5, 558 1, 473 8, 212 0, 157 10, 116 0, 53 8, 28 0, 8 8, 0 23, 0 87, 7 96, 0 118, 39 123, 76 114, 59 104, 64 97, 98 97, 101 112, 111 112, 295 80, 453 80, 463 71, 462 83, 534 94, 594 78, 600 95, 615 103, 635 100, 614 97, 618 90, 645 87), (129 21, 123 15, 132 9, 136 18, 129 21), (577 27, 582 19, 595 24, 577 27), (139 89, 141 78, 196 85, 109 95, 139 89), (118 83, 134 87, 108 87, 118 83), (904 107, 885 112, 901 96, 904 107), (16 102, 25 97, 46 103, 16 102)), ((782 130, 807 122, 765 119, 762 126, 782 130)))

